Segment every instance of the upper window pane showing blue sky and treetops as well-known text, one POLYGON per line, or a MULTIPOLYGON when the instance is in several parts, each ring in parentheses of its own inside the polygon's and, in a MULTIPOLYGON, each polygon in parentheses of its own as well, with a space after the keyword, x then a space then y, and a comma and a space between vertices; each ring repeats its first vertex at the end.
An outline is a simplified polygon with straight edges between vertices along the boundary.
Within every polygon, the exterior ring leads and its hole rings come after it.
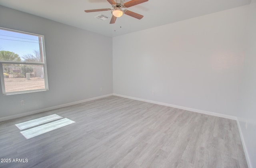
POLYGON ((0 60, 44 62, 42 36, 0 29, 0 60))

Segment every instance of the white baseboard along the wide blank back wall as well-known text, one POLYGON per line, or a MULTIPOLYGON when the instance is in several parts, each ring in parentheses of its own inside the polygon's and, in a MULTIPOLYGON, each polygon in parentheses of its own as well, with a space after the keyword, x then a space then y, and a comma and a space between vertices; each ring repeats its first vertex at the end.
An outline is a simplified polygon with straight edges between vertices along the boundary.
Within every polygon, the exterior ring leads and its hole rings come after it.
POLYGON ((134 100, 138 100, 138 101, 154 103, 154 104, 157 104, 157 105, 164 105, 164 106, 173 107, 173 108, 177 108, 177 109, 193 111, 193 112, 196 112, 196 113, 202 113, 202 114, 206 114, 206 115, 212 115, 212 116, 216 116, 216 117, 222 117, 222 118, 225 118, 225 119, 231 119, 231 120, 236 120, 237 121, 237 117, 234 117, 234 116, 231 116, 231 115, 224 115, 224 114, 213 113, 213 112, 209 112, 209 111, 192 109, 192 108, 189 108, 189 107, 183 107, 183 106, 177 106, 177 105, 172 105, 172 104, 168 104, 168 103, 162 103, 162 102, 158 102, 158 101, 152 101, 152 100, 140 99, 140 98, 136 98, 136 97, 124 96, 124 95, 119 95, 119 94, 116 94, 116 93, 114 93, 113 95, 128 98, 128 99, 134 99, 134 100))

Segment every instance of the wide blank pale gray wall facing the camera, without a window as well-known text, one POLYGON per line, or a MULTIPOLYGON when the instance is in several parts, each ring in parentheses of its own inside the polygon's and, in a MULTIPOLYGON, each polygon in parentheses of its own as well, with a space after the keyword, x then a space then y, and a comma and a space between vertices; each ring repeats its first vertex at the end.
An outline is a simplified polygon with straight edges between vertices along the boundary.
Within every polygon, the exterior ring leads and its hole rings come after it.
POLYGON ((247 10, 113 38, 114 93, 237 116, 247 10))

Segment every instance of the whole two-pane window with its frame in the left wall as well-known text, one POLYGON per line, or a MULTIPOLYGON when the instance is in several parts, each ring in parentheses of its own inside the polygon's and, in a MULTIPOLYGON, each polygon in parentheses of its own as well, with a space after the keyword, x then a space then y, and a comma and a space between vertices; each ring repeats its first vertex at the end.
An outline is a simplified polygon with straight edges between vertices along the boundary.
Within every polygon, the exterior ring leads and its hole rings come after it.
POLYGON ((4 95, 48 90, 44 36, 0 28, 4 95))

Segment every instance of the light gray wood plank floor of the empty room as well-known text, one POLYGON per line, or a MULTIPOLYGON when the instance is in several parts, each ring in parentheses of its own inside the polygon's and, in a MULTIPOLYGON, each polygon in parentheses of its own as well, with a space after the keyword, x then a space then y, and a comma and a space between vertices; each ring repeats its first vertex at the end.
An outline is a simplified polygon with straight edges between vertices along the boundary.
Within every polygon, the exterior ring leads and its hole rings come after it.
POLYGON ((110 96, 0 123, 1 168, 247 168, 236 121, 110 96), (15 124, 76 123, 26 139, 15 124))

